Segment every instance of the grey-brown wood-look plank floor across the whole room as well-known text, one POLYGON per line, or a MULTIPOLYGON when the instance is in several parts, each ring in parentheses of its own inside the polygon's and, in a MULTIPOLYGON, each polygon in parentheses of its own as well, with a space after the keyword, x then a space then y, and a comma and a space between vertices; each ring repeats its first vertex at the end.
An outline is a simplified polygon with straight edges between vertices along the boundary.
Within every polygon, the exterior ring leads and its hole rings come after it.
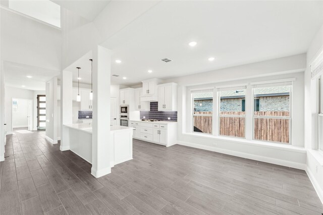
POLYGON ((306 173, 134 140, 133 160, 95 179, 44 132, 16 129, 0 163, 1 214, 321 214, 306 173))

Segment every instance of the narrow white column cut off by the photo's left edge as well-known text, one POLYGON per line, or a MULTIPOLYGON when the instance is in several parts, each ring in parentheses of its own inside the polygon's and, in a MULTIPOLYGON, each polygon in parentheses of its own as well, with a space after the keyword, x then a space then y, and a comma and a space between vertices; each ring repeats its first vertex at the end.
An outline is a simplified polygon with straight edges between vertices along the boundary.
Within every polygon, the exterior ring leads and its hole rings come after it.
POLYGON ((0 62, 0 162, 5 160, 5 80, 4 61, 0 62))

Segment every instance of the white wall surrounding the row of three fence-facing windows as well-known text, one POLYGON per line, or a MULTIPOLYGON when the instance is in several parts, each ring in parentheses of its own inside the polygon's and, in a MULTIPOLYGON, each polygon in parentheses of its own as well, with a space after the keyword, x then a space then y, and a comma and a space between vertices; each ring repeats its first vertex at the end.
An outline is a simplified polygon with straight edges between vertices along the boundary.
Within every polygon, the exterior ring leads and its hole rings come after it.
POLYGON ((304 83, 303 72, 306 68, 306 55, 296 55, 270 61, 242 65, 217 71, 189 75, 165 80, 178 83, 178 129, 177 138, 179 144, 185 144, 197 148, 219 151, 236 156, 262 160, 274 164, 280 164, 300 169, 305 169, 306 151, 304 148, 303 116, 304 116, 304 83), (298 73, 296 73, 298 72, 298 73), (207 77, 207 78, 206 78, 207 77), (190 101, 187 100, 187 89, 193 85, 216 83, 216 85, 228 85, 229 83, 245 83, 253 80, 275 80, 281 78, 296 77, 293 86, 293 138, 292 145, 280 147, 276 143, 254 144, 247 141, 239 141, 237 138, 221 140, 220 138, 207 138, 187 134, 190 132, 187 125, 190 122, 190 101), (225 83, 227 82, 227 83, 225 83), (217 145, 214 145, 216 143, 217 145))

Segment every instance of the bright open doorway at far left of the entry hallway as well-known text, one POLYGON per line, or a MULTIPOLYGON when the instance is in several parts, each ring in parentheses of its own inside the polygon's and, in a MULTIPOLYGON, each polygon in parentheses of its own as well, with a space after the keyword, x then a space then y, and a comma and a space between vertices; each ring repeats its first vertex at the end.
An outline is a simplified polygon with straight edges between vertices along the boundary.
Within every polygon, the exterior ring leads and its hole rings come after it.
POLYGON ((32 130, 32 99, 12 98, 11 127, 32 130))

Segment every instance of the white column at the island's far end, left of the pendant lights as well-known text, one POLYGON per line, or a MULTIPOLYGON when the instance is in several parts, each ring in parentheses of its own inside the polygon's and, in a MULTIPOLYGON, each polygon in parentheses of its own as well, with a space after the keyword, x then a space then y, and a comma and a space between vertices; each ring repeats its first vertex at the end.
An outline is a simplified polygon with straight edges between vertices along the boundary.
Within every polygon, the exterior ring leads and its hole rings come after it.
POLYGON ((70 149, 69 129, 63 125, 72 124, 73 77, 72 72, 62 71, 61 80, 61 151, 70 149))

